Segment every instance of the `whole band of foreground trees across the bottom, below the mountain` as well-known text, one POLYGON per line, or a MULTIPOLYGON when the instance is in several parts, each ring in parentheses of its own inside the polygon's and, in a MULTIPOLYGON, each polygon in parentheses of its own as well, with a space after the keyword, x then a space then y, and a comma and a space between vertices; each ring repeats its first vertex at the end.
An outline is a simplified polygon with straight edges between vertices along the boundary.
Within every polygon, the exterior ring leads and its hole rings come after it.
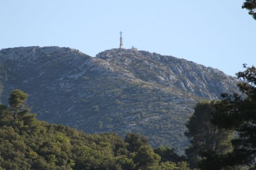
POLYGON ((255 169, 256 68, 236 73, 241 93, 201 101, 188 120, 185 155, 153 149, 136 133, 87 134, 36 119, 28 94, 13 90, 0 105, 0 169, 255 169))

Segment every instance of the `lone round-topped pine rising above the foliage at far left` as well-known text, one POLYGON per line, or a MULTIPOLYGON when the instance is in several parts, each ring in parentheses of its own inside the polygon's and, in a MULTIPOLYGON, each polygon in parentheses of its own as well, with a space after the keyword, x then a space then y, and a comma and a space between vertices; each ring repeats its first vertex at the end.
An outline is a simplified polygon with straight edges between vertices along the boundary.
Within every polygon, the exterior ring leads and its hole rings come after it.
POLYGON ((18 112, 24 110, 25 105, 24 102, 27 100, 28 94, 24 93, 23 91, 16 89, 13 90, 9 97, 9 105, 12 107, 13 110, 13 117, 14 119, 17 116, 18 112))

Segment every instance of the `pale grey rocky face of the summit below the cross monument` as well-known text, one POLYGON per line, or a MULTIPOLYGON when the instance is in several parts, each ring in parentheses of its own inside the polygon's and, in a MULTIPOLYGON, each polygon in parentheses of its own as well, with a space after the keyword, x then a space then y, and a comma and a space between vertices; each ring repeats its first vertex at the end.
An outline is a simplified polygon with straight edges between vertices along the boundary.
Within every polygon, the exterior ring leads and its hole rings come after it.
POLYGON ((236 89, 237 80, 222 71, 172 56, 147 51, 113 49, 104 51, 96 57, 108 61, 117 71, 127 76, 176 87, 210 100, 219 99, 220 93, 233 92, 236 89))

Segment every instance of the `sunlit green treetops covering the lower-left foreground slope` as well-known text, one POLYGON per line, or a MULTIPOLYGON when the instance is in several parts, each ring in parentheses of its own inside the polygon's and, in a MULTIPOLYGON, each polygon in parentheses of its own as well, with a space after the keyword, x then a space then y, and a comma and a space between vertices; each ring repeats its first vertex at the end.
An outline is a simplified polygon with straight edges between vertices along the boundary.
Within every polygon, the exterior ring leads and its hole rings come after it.
POLYGON ((189 169, 174 149, 154 151, 137 134, 122 139, 39 121, 25 99, 27 94, 14 90, 10 107, 0 105, 0 169, 189 169))

